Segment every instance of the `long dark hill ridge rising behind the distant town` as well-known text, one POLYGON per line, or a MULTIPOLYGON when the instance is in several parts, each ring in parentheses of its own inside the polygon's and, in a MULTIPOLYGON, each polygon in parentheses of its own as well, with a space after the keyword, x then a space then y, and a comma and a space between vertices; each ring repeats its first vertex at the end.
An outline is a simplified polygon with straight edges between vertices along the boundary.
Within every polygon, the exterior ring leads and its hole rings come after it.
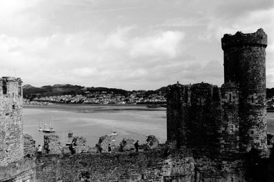
POLYGON ((45 97, 53 95, 85 95, 87 93, 95 93, 105 91, 107 93, 116 93, 125 95, 128 91, 123 89, 110 89, 105 87, 82 87, 79 85, 45 85, 42 87, 33 87, 32 85, 23 86, 23 97, 32 100, 34 97, 45 97))

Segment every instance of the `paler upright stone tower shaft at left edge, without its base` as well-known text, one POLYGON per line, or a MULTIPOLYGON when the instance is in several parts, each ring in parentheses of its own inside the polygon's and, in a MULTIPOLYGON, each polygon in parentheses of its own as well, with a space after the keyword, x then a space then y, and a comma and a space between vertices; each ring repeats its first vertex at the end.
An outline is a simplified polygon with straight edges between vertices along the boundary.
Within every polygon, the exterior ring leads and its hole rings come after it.
POLYGON ((0 78, 0 166, 23 159, 23 97, 20 78, 0 78))

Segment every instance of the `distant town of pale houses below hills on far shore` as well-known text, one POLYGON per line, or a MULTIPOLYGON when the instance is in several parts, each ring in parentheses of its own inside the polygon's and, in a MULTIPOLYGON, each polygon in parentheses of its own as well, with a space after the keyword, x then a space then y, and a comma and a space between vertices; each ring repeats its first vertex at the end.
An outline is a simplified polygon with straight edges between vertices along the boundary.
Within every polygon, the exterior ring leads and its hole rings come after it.
MULTIPOLYGON (((49 86, 47 86, 49 87, 49 86)), ((34 87, 23 87, 26 93, 24 95, 24 105, 48 105, 48 104, 147 104, 154 106, 164 106, 166 104, 165 91, 124 91, 121 89, 108 88, 79 88, 73 85, 53 85, 54 89, 48 91, 29 91, 34 87), (55 90, 61 92, 54 92, 55 90), (68 93, 68 87, 70 87, 68 93), (72 87, 74 89, 72 89, 72 87), (49 91, 51 90, 51 91, 49 91), (99 90, 99 91, 97 91, 99 90), (113 90, 113 91, 112 91, 113 90)), ((34 89, 33 89, 34 90, 34 89)), ((24 93, 24 92, 23 92, 24 93)))

